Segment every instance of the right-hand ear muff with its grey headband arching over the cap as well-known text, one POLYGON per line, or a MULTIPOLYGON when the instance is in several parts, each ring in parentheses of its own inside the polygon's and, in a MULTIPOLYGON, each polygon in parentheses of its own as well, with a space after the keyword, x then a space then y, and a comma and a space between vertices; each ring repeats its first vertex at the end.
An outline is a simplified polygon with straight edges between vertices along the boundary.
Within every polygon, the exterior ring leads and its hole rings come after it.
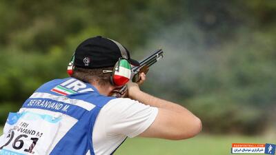
POLYGON ((119 58, 119 60, 115 64, 110 76, 110 83, 117 86, 125 85, 126 83, 128 83, 128 81, 130 81, 131 76, 131 65, 128 62, 128 54, 123 45, 112 39, 109 40, 116 43, 121 52, 121 58, 119 58))

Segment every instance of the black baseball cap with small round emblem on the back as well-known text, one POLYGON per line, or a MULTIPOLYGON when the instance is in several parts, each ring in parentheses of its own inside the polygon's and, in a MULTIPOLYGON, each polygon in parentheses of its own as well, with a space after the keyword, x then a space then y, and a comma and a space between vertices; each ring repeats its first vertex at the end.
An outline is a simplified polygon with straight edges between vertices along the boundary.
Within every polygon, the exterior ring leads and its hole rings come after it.
POLYGON ((138 61, 130 59, 130 54, 123 45, 99 36, 79 44, 75 51, 74 65, 79 68, 113 67, 119 58, 128 59, 131 65, 139 65, 138 61))

